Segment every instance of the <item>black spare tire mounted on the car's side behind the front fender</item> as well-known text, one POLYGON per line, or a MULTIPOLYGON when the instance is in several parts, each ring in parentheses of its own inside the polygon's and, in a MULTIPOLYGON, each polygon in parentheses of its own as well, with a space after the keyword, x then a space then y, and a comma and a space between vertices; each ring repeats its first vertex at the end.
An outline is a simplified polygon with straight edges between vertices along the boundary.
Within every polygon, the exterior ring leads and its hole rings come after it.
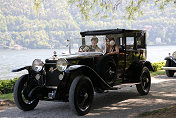
POLYGON ((106 55, 100 58, 96 70, 105 82, 113 86, 116 79, 116 63, 112 56, 106 55))

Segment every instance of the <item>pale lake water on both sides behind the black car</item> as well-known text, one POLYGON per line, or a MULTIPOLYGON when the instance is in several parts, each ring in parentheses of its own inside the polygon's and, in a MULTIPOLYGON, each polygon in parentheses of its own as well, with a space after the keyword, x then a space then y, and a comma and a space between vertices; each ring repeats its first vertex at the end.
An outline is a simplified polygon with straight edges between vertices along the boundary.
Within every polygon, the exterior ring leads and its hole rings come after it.
MULTIPOLYGON (((21 76, 27 71, 12 73, 12 69, 31 65, 34 59, 45 61, 46 58, 53 56, 53 51, 57 54, 66 52, 66 49, 33 49, 33 50, 0 50, 0 80, 12 79, 21 76)), ((76 51, 76 50, 74 50, 76 51)), ((168 53, 176 51, 175 46, 148 46, 147 60, 150 62, 164 61, 168 53)))

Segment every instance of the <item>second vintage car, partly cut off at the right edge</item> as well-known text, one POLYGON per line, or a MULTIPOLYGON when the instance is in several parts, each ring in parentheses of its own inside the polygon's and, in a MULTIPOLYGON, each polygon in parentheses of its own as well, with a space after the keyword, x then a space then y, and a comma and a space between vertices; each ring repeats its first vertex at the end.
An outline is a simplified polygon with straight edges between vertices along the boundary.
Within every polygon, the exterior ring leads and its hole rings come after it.
POLYGON ((173 52, 172 55, 169 53, 169 56, 165 57, 165 60, 166 65, 165 67, 162 67, 162 69, 166 71, 168 77, 173 77, 176 72, 176 51, 173 52))

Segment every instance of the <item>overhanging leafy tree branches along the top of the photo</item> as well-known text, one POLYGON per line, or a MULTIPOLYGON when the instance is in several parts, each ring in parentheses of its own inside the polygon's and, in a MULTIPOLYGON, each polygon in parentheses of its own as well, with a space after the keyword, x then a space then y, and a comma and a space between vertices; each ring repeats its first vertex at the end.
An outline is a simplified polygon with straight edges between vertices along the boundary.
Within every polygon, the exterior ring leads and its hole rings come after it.
POLYGON ((131 20, 143 15, 142 7, 146 3, 154 3, 162 10, 166 6, 175 6, 176 0, 68 0, 68 3, 78 7, 85 19, 89 19, 92 12, 95 18, 106 18, 113 17, 114 12, 125 11, 125 18, 131 20))

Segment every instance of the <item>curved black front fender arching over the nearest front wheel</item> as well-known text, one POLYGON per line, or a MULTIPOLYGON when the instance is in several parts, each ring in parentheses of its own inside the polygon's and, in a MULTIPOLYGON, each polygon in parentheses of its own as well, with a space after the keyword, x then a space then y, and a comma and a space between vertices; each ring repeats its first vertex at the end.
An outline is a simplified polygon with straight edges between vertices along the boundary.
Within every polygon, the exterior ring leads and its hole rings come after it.
POLYGON ((101 88, 103 90, 112 89, 92 68, 84 65, 69 66, 64 71, 64 78, 58 84, 56 98, 59 100, 68 101, 68 93, 73 80, 84 75, 90 78, 94 88, 101 88))

